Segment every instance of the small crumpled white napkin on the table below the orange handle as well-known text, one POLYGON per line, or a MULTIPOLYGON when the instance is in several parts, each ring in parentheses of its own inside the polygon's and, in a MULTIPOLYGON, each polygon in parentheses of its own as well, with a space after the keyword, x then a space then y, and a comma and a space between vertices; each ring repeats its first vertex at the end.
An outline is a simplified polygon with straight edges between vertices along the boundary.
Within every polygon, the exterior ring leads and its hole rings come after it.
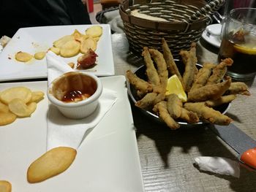
POLYGON ((200 170, 217 174, 226 174, 233 177, 240 177, 240 166, 238 161, 221 157, 197 157, 195 164, 200 170))

